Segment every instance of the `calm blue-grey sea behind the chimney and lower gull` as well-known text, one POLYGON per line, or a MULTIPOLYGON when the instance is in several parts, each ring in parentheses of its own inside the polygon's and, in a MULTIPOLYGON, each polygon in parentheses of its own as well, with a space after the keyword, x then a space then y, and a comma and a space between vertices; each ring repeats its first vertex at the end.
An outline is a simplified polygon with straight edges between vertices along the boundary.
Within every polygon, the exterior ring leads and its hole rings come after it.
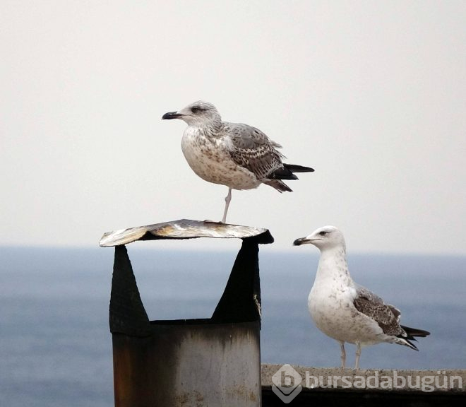
MULTIPOLYGON (((150 319, 210 317, 234 252, 129 255, 150 319)), ((318 256, 261 249, 263 362, 337 366, 337 343, 313 326, 307 296, 318 256)), ((113 249, 0 248, 2 406, 113 406, 108 306, 113 249)), ((351 255, 355 281, 431 331, 419 352, 364 348, 362 367, 466 368, 466 257, 351 255)), ((354 346, 347 346, 349 365, 354 346)))

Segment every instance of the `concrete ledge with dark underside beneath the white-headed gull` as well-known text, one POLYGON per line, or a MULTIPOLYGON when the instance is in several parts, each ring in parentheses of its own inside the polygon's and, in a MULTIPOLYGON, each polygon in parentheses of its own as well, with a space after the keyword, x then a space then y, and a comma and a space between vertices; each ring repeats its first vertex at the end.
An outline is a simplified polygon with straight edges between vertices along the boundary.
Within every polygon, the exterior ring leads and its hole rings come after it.
POLYGON ((464 406, 466 370, 353 370, 263 364, 262 390, 263 406, 464 406), (281 394, 277 383, 282 384, 281 394))

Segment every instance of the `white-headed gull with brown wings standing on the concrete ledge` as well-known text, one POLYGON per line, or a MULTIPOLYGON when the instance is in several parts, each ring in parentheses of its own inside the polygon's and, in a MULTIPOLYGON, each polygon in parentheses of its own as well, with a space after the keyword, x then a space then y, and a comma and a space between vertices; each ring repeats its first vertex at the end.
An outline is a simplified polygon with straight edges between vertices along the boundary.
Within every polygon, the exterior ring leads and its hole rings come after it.
POLYGON ((398 343, 418 350, 414 336, 427 336, 422 329, 400 325, 401 312, 349 276, 345 238, 334 226, 324 226, 311 235, 294 240, 295 246, 313 244, 321 250, 316 280, 309 293, 313 321, 325 335, 340 343, 345 367, 345 342, 356 344, 356 367, 361 347, 376 343, 398 343))

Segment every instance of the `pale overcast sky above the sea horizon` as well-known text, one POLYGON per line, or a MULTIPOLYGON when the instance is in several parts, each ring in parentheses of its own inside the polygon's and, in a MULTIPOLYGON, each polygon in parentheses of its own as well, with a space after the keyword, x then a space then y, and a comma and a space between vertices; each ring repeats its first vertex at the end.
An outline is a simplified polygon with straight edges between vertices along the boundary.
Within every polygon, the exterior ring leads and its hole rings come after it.
POLYGON ((465 1, 3 0, 0 244, 220 220, 227 187, 161 120, 207 100, 316 169, 233 191, 271 249, 332 224, 354 252, 466 254, 465 27, 465 1))

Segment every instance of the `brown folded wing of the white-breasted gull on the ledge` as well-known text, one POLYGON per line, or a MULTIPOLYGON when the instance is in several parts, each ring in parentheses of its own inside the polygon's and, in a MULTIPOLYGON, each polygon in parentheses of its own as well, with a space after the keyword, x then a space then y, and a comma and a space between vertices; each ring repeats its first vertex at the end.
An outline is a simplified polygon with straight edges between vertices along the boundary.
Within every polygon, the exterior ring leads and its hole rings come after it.
POLYGON ((400 326, 400 309, 386 304, 381 297, 361 285, 357 285, 355 288, 357 295, 353 304, 359 312, 374 319, 386 335, 405 334, 400 326))

